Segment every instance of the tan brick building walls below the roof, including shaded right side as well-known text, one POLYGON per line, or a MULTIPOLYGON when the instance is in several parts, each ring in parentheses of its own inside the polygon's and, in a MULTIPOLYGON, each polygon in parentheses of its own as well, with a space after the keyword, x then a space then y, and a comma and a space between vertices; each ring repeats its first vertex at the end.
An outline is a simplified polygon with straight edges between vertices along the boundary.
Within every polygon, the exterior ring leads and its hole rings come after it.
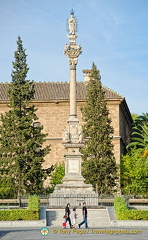
MULTIPOLYGON (((77 115, 79 126, 82 125, 82 115, 80 107, 85 104, 84 101, 77 103, 77 115)), ((62 145, 64 129, 68 128, 67 121, 69 119, 69 102, 34 102, 37 108, 38 121, 43 125, 43 132, 47 133, 45 145, 51 145, 50 153, 45 157, 43 167, 48 168, 56 162, 64 161, 64 153, 66 150, 62 145)), ((121 100, 108 100, 107 107, 109 109, 111 125, 114 128, 113 144, 116 162, 120 163, 120 156, 123 151, 124 144, 127 143, 131 131, 130 120, 124 104, 121 100)), ((6 103, 0 104, 0 113, 8 111, 6 103)))

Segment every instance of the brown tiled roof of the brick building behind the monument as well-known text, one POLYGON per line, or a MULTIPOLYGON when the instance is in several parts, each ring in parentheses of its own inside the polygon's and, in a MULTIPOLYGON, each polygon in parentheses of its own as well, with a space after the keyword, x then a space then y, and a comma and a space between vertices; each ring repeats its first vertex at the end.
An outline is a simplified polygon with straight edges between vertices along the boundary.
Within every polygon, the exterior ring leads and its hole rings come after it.
MULTIPOLYGON (((35 100, 68 100, 69 82, 35 82, 35 100)), ((0 101, 7 101, 7 88, 9 83, 0 83, 0 101)), ((122 99, 123 97, 109 88, 103 86, 106 99, 122 99)), ((85 100, 86 85, 77 82, 77 99, 85 100)))

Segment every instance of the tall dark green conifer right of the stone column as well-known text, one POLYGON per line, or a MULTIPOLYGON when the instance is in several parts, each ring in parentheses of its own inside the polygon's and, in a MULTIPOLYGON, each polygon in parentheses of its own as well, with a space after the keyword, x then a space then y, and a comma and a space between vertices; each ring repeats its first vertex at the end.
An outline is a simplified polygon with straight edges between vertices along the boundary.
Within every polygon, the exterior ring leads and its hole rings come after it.
POLYGON ((93 63, 86 86, 86 104, 82 107, 85 124, 82 126, 85 145, 82 174, 99 194, 111 193, 116 186, 117 166, 113 154, 111 120, 100 80, 100 72, 93 63))

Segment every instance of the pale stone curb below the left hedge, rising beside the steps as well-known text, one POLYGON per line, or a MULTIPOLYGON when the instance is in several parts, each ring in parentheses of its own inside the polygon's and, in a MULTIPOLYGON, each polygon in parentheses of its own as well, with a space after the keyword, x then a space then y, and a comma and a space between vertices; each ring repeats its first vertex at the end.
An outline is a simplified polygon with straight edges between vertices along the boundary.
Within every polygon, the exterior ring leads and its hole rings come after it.
POLYGON ((40 220, 0 221, 0 228, 5 227, 46 227, 46 207, 40 207, 40 220))

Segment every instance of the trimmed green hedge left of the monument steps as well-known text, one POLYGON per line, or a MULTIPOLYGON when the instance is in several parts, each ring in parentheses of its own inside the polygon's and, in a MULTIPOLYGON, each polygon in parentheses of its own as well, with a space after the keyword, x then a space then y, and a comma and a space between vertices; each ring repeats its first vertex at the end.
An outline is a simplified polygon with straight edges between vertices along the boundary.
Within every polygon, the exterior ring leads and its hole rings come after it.
POLYGON ((0 221, 39 220, 39 198, 30 196, 28 209, 0 210, 0 221))

